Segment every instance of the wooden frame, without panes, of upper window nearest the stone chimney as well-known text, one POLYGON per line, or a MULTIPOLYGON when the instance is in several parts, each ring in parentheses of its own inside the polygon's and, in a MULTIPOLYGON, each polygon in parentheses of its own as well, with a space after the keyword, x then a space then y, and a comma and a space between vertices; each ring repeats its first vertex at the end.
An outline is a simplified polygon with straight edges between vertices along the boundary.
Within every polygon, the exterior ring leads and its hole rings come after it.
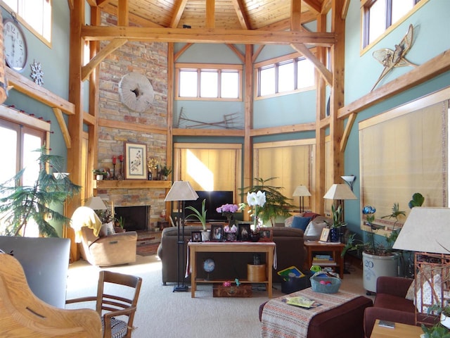
POLYGON ((227 63, 176 63, 175 64, 175 100, 179 101, 243 101, 243 65, 227 63), (180 96, 180 73, 182 70, 191 70, 197 73, 197 96, 180 96), (217 70, 217 97, 200 96, 201 72, 217 70), (238 97, 220 97, 221 73, 236 71, 238 73, 238 97))

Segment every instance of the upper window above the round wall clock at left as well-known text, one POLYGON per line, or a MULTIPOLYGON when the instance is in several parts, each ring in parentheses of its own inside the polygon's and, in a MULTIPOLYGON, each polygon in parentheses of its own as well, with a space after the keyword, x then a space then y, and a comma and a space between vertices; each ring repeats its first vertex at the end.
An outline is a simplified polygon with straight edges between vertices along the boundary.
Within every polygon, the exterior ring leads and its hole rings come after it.
POLYGON ((51 0, 3 0, 1 4, 39 39, 51 42, 51 0))

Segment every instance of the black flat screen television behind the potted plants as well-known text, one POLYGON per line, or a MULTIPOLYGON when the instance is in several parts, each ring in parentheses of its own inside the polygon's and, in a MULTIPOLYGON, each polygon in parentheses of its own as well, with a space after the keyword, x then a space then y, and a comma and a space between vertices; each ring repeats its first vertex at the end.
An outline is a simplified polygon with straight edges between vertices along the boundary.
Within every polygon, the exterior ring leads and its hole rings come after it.
MULTIPOLYGON (((204 191, 196 191, 198 194, 198 199, 195 201, 185 201, 185 206, 193 206, 198 211, 202 210, 202 202, 206 199, 205 208, 206 208, 206 220, 207 222, 217 222, 226 220, 226 217, 221 213, 216 211, 216 208, 222 206, 223 204, 233 204, 233 192, 231 191, 212 191, 212 192, 204 192, 204 191)), ((193 211, 189 209, 185 209, 184 215, 187 217, 191 215, 193 211)), ((196 218, 190 218, 190 220, 197 220, 196 218)))

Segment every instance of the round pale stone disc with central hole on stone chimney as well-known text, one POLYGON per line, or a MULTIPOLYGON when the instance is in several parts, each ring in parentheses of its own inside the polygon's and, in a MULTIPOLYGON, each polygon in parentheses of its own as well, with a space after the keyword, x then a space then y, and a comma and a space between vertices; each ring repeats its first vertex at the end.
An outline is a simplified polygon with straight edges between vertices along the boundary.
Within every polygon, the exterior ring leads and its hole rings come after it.
POLYGON ((153 102, 155 93, 148 78, 139 73, 129 73, 119 82, 119 94, 122 104, 132 111, 143 113, 153 102))

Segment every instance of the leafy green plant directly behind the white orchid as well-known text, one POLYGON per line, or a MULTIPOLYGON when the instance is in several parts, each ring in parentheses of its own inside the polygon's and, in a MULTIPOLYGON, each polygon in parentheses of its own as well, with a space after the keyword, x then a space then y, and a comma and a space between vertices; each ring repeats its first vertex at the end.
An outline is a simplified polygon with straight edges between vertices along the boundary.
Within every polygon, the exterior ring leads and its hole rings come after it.
POLYGON ((270 177, 266 180, 256 177, 253 180, 256 181, 256 184, 252 187, 244 187, 241 190, 243 191, 242 195, 250 192, 264 192, 266 196, 266 203, 264 204, 264 208, 261 208, 257 217, 261 220, 261 223, 270 222, 272 226, 275 225, 275 220, 278 216, 281 217, 289 217, 289 210, 294 206, 289 203, 292 199, 288 199, 288 197, 281 194, 281 189, 283 187, 274 187, 272 185, 267 185, 266 183, 275 180, 276 177, 270 177))

